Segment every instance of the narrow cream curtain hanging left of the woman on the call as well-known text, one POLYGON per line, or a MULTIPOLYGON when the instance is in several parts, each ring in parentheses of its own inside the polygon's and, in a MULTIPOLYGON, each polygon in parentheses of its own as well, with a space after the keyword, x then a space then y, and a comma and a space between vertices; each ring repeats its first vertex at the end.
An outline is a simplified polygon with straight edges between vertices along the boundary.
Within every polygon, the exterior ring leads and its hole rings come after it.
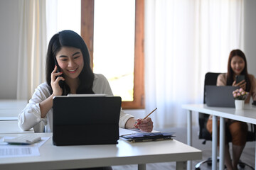
POLYGON ((29 99, 45 81, 46 1, 19 1, 17 99, 29 99))

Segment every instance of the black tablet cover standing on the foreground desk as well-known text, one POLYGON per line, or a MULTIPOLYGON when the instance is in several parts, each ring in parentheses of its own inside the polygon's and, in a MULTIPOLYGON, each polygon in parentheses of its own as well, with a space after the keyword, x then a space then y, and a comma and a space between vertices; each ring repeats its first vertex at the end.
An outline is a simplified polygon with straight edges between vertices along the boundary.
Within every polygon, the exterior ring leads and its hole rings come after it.
POLYGON ((53 145, 117 144, 121 98, 53 98, 53 145))

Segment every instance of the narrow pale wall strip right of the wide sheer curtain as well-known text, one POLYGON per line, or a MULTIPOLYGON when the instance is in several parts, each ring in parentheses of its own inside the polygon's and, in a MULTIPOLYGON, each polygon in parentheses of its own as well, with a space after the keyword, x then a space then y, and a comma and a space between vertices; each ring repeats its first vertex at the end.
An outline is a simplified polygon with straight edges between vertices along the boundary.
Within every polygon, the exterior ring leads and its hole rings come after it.
POLYGON ((245 0, 245 56, 248 72, 256 77, 256 1, 245 0))

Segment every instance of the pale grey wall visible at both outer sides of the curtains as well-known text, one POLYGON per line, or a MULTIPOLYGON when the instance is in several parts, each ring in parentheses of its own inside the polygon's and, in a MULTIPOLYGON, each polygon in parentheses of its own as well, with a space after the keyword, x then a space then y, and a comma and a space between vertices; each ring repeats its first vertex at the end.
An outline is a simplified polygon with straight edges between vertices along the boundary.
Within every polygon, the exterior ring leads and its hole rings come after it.
MULTIPOLYGON (((256 1, 245 0, 245 55, 256 76, 256 1)), ((16 98, 18 60, 18 0, 0 1, 0 99, 16 98)))

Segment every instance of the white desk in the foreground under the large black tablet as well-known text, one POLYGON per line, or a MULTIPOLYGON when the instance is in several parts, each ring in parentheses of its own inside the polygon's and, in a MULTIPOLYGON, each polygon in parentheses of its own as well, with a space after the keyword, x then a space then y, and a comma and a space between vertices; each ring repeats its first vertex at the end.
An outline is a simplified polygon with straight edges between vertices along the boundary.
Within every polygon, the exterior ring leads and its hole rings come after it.
MULTIPOLYGON (((52 133, 34 135, 51 137, 52 133)), ((176 140, 138 143, 119 140, 117 145, 56 147, 50 138, 39 151, 38 157, 2 158, 0 169, 78 169, 124 164, 138 164, 138 169, 146 169, 147 163, 155 162, 176 162, 176 169, 186 169, 187 160, 202 158, 200 150, 176 140)))

